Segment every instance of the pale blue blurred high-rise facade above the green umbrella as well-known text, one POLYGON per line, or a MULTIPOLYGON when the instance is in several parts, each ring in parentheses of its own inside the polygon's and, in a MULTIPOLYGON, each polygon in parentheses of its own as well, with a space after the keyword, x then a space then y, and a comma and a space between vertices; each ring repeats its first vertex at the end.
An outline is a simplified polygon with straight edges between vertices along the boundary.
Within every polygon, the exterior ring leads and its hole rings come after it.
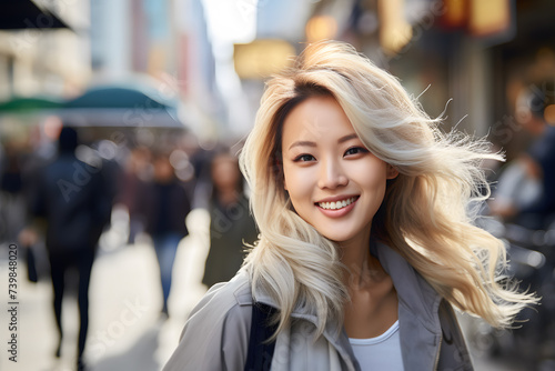
POLYGON ((181 104, 181 121, 213 134, 222 103, 201 0, 91 1, 95 82, 141 81, 181 104))

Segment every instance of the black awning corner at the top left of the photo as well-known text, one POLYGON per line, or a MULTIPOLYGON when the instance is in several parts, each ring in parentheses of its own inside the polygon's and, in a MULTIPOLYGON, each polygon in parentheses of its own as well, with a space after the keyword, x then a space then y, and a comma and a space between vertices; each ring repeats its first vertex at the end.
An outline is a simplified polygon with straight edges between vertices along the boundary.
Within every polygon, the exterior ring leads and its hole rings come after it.
POLYGON ((71 29, 52 11, 32 0, 0 0, 0 30, 71 29))

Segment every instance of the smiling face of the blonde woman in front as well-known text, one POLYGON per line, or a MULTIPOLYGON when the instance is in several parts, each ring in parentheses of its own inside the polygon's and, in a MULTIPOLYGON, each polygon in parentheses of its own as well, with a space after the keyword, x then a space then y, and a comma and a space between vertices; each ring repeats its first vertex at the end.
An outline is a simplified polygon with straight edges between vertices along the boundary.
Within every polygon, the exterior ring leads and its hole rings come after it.
POLYGON ((365 243, 397 172, 372 154, 332 97, 312 97, 285 118, 284 188, 296 213, 339 243, 365 243))

